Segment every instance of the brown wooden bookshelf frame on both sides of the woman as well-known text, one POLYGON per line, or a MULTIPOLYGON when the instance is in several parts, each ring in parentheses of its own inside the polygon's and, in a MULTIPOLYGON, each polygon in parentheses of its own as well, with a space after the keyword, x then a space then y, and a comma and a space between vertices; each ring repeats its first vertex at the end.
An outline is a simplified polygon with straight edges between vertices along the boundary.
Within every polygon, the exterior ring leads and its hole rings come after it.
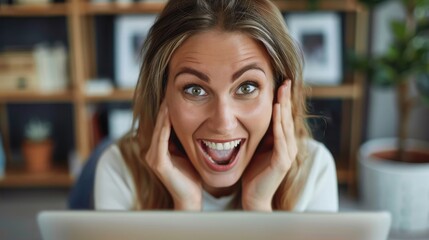
MULTIPOLYGON (((308 11, 306 1, 276 0, 283 11, 308 11)), ((66 18, 67 41, 69 49, 70 88, 63 92, 0 92, 0 126, 3 138, 9 133, 6 107, 13 103, 69 103, 73 106, 74 142, 80 159, 86 159, 92 148, 90 142, 90 126, 88 106, 111 102, 130 102, 132 90, 114 89, 108 94, 87 94, 85 81, 97 77, 97 61, 95 56, 95 18, 128 14, 159 13, 163 3, 131 3, 93 4, 83 0, 67 0, 65 3, 54 3, 45 6, 0 5, 0 21, 2 18, 66 18)), ((344 15, 343 34, 344 47, 358 52, 366 51, 368 13, 357 3, 357 0, 320 0, 318 10, 337 11, 344 15)), ((112 26, 113 27, 113 26, 112 26)), ((355 156, 361 142, 361 125, 364 100, 364 79, 362 76, 346 72, 343 83, 339 86, 311 87, 309 99, 343 102, 340 154, 336 156, 337 175, 341 184, 354 187, 356 184, 355 156)), ((6 143, 6 148, 8 144, 6 143)), ((9 150, 6 149, 6 152, 9 150)), ((8 154, 10 158, 10 153, 8 154)), ((22 186, 70 186, 73 179, 67 169, 55 169, 44 176, 26 174, 23 170, 8 169, 4 179, 0 180, 0 188, 22 186)))

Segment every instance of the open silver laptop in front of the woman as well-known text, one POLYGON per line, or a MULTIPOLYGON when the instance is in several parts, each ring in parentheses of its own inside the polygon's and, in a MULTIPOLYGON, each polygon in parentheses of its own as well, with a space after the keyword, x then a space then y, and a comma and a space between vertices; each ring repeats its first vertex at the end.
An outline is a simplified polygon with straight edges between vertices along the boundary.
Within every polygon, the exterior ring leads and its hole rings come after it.
POLYGON ((44 240, 385 240, 386 212, 45 211, 44 240))

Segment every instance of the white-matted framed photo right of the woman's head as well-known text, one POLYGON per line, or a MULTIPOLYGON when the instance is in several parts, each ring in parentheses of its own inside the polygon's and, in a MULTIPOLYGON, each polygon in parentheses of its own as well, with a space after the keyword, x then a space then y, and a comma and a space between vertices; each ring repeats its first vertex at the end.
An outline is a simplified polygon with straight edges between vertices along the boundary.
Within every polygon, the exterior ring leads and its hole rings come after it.
POLYGON ((304 81, 338 85, 342 79, 341 18, 336 13, 286 15, 292 37, 304 54, 304 81))

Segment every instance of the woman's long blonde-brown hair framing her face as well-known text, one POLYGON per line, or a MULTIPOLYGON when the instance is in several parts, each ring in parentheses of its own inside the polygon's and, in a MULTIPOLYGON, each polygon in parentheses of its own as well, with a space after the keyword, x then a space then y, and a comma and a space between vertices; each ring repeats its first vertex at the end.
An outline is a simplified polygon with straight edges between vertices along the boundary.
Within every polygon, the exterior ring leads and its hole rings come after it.
POLYGON ((143 65, 134 93, 137 130, 119 141, 121 153, 133 174, 138 209, 172 209, 173 201, 144 160, 156 116, 167 85, 168 63, 189 36, 221 29, 240 32, 261 42, 272 61, 276 88, 292 80, 292 115, 298 139, 298 156, 279 186, 273 208, 291 210, 306 176, 302 140, 309 135, 302 83, 302 54, 288 34, 278 8, 269 0, 171 0, 151 28, 143 46, 143 65))

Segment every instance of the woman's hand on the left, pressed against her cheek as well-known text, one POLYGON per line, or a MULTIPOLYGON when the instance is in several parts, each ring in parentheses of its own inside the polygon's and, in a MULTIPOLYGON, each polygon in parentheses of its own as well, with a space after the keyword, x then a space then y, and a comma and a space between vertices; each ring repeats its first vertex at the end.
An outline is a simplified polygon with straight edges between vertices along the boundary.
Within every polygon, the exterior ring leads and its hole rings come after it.
POLYGON ((146 162, 170 192, 176 210, 202 209, 202 184, 199 174, 186 156, 170 151, 171 123, 165 101, 158 112, 146 162))

